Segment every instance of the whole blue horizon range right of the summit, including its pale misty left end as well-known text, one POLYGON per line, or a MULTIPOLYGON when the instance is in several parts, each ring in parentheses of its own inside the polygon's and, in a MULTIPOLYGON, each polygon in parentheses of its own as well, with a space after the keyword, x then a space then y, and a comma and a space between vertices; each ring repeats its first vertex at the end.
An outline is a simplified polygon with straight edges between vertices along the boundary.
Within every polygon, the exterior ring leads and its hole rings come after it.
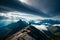
POLYGON ((53 24, 60 24, 60 20, 53 20, 53 19, 30 20, 29 22, 31 24, 37 24, 37 25, 41 25, 41 24, 45 24, 45 23, 46 24, 51 24, 51 25, 53 25, 53 24))

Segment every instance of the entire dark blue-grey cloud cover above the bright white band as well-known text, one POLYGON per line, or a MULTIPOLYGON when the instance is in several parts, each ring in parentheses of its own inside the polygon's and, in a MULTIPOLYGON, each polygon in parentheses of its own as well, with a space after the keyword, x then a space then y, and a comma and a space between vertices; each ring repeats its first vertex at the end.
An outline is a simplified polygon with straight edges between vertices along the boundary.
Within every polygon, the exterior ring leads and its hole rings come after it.
POLYGON ((40 18, 60 19, 60 0, 0 0, 0 15, 15 11, 40 18))

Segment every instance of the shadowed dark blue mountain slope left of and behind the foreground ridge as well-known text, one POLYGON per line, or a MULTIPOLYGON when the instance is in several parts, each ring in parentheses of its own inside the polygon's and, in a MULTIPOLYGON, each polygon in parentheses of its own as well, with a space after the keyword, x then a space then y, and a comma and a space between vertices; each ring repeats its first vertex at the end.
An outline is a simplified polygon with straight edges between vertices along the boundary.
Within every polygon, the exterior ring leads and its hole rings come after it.
POLYGON ((12 23, 7 26, 1 27, 0 40, 3 40, 6 36, 12 35, 26 26, 28 26, 28 23, 20 20, 17 23, 12 23))

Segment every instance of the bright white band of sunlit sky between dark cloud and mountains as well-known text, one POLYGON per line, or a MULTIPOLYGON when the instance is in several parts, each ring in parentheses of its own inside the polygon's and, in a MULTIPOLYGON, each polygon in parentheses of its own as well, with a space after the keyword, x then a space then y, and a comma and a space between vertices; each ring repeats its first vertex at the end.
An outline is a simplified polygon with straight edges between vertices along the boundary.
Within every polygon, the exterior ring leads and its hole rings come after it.
POLYGON ((22 12, 0 13, 0 16, 5 16, 5 17, 8 17, 9 19, 13 19, 13 20, 19 20, 20 18, 24 18, 27 21, 36 20, 36 19, 44 19, 43 17, 40 17, 40 16, 26 14, 26 13, 22 13, 22 12))

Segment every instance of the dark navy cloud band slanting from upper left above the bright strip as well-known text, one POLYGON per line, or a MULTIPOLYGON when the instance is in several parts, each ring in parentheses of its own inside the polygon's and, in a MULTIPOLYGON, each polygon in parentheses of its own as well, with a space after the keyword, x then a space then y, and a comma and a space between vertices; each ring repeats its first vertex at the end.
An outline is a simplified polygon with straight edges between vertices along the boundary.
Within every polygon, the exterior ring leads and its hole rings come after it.
POLYGON ((7 11, 7 12, 11 11, 11 10, 15 10, 15 11, 19 11, 19 12, 26 12, 26 13, 32 13, 35 15, 39 15, 39 16, 49 17, 48 15, 45 15, 43 12, 37 10, 36 8, 33 8, 26 4, 22 4, 18 0, 0 0, 0 6, 8 7, 8 9, 6 9, 6 8, 1 9, 3 11, 7 11), (9 8, 11 8, 11 9, 9 9, 9 8))

